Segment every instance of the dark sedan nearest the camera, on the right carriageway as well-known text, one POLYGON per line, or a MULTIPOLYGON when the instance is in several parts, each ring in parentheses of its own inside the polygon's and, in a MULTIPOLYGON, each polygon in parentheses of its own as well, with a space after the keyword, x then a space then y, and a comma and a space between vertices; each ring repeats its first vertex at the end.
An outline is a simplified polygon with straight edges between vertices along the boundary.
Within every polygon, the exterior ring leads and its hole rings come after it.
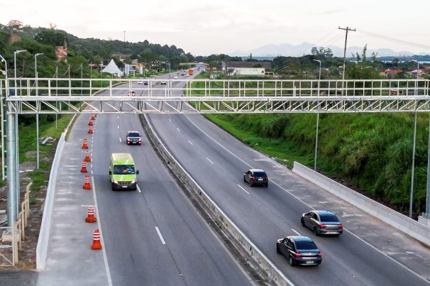
POLYGON ((307 236, 287 236, 276 241, 276 252, 283 254, 294 265, 320 265, 321 252, 307 236))

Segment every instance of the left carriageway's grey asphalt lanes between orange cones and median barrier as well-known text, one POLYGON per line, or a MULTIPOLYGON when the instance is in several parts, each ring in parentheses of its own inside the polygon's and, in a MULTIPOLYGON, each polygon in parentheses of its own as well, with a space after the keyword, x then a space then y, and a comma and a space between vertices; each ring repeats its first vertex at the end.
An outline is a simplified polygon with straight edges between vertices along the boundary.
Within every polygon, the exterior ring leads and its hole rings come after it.
MULTIPOLYGON (((108 116, 116 120, 114 116, 108 116)), ((97 119, 97 129, 102 129, 99 128, 102 117, 97 119)), ((126 123, 136 121, 135 116, 123 115, 120 119, 121 126, 138 128, 126 123)), ((118 123, 106 122, 106 128, 114 126, 112 129, 117 130, 115 126, 118 123)), ((122 134, 122 129, 119 130, 118 134, 122 134)), ((226 285, 229 281, 237 285, 250 283, 218 238, 189 205, 146 140, 142 146, 128 146, 104 137, 97 138, 98 133, 95 134, 94 145, 101 144, 103 154, 97 157, 94 180, 104 241, 109 238, 105 244, 115 283, 123 283, 124 280, 145 281, 148 285, 202 285, 205 281, 216 285, 226 285), (141 194, 110 190, 107 173, 109 156, 106 153, 110 154, 112 150, 132 153, 140 170, 138 186, 141 194), (109 221, 109 224, 106 226, 104 221, 109 221), (118 241, 126 238, 131 241, 118 246, 118 241), (118 269, 118 272, 113 269, 118 269)))

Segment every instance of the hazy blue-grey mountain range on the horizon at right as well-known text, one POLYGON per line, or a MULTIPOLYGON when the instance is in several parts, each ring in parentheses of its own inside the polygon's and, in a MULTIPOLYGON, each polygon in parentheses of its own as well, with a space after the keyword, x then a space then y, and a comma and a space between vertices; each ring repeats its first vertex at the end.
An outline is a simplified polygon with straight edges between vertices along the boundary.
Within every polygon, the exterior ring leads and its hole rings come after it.
MULTIPOLYGON (((277 56, 287 56, 287 57, 301 57, 302 55, 309 55, 311 53, 311 49, 313 47, 319 48, 318 45, 314 45, 312 43, 302 43, 300 45, 290 45, 290 44, 280 44, 280 45, 264 45, 260 48, 255 48, 253 50, 236 50, 235 52, 229 54, 232 57, 246 57, 251 53, 253 57, 277 57, 277 56)), ((335 57, 343 57, 343 48, 336 47, 334 45, 329 45, 328 47, 333 52, 335 57)), ((377 57, 409 57, 413 55, 417 55, 415 53, 411 53, 408 51, 400 51, 395 52, 390 49, 377 49, 366 51, 366 55, 370 57, 372 53, 375 52, 377 57)), ((351 55, 361 55, 363 53, 363 47, 347 47, 346 48, 346 57, 351 57, 351 55)), ((419 53, 418 55, 428 55, 428 53, 419 53)))

